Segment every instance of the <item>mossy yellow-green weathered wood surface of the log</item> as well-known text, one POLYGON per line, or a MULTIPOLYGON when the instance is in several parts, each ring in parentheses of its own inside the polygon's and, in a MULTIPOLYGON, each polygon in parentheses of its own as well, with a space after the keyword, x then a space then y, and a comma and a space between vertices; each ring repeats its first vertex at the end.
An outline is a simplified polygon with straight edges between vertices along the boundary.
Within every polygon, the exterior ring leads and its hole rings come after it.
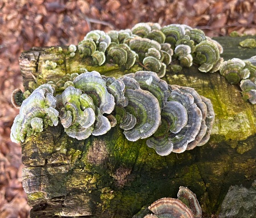
MULTIPOLYGON (((216 38, 224 47, 225 60, 256 54, 256 49, 239 47, 243 39, 216 38)), ((90 58, 68 58, 66 49, 34 48, 22 53, 25 90, 35 78, 39 83, 58 81, 79 68, 93 69, 90 58), (46 60, 58 62, 58 67, 43 70, 46 60)), ((107 76, 122 73, 115 65, 94 69, 107 76)), ((139 69, 135 66, 130 72, 139 69)), ((209 142, 161 157, 145 140, 126 140, 118 127, 82 141, 68 137, 60 126, 49 127, 22 143, 22 179, 33 207, 31 217, 132 217, 159 198, 176 198, 179 186, 189 187, 204 216, 210 217, 218 214, 230 185, 251 185, 256 179, 256 106, 244 102, 239 87, 219 73, 201 73, 196 66, 178 74, 166 73, 164 79, 194 87, 212 100, 216 120, 209 142)))

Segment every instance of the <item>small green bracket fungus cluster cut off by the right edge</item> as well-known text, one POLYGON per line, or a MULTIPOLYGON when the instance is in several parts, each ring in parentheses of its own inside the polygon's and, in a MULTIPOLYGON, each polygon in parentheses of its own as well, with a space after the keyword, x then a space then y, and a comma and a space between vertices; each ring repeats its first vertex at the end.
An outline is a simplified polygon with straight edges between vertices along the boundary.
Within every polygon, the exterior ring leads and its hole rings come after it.
POLYGON ((256 66, 251 62, 255 56, 247 60, 232 58, 221 64, 220 74, 232 84, 239 84, 243 99, 256 103, 256 66))

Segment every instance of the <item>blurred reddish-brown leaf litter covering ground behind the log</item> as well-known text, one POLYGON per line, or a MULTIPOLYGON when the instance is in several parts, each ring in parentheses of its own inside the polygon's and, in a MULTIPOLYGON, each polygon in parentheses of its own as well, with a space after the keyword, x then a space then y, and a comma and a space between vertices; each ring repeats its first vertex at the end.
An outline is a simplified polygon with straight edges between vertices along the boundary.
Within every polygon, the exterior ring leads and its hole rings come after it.
POLYGON ((256 34, 254 0, 2 0, 0 1, 0 217, 29 217, 22 188, 21 146, 10 140, 19 113, 11 93, 22 87, 19 55, 32 47, 77 45, 88 31, 140 22, 186 24, 207 36, 256 34))

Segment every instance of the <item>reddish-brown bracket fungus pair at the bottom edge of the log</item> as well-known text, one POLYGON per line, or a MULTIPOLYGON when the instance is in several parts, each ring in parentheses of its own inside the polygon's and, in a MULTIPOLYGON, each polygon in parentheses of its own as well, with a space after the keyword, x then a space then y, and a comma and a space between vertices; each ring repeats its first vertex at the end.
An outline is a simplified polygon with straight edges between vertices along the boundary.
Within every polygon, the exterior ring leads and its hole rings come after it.
POLYGON ((178 199, 161 198, 148 207, 153 214, 144 218, 173 217, 173 218, 201 218, 202 210, 196 195, 188 188, 181 186, 178 199))

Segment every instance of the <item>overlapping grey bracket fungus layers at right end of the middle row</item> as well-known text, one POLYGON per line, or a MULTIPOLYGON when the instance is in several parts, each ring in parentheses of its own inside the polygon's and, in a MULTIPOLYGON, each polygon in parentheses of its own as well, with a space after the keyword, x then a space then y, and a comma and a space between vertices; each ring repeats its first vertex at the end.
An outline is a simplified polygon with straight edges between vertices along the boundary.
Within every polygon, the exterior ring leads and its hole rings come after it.
POLYGON ((161 125, 147 140, 161 156, 204 145, 210 137, 214 111, 209 99, 189 87, 168 85, 169 97, 161 111, 161 125))

